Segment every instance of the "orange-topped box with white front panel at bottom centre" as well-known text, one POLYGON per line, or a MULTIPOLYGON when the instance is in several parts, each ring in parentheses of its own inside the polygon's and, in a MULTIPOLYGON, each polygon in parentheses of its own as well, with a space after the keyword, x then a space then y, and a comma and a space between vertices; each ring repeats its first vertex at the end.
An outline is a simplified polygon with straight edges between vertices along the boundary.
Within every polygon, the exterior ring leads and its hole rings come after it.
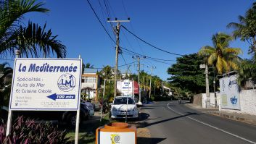
POLYGON ((96 144, 136 144, 137 129, 124 122, 105 124, 96 130, 96 144))

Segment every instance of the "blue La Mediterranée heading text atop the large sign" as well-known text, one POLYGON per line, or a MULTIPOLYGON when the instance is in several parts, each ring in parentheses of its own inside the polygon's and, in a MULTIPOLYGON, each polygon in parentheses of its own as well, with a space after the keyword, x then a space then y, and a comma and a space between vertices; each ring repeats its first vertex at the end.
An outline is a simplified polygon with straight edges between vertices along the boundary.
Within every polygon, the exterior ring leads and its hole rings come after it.
POLYGON ((77 69, 78 67, 73 66, 73 64, 70 66, 54 66, 47 63, 43 65, 30 64, 28 71, 26 65, 20 64, 19 66, 19 72, 76 72, 77 69))

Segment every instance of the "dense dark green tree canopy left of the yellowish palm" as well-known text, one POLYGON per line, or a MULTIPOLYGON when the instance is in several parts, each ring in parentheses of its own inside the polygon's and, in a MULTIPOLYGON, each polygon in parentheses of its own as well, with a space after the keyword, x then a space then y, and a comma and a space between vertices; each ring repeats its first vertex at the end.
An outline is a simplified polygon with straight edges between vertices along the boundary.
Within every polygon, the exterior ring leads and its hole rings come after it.
POLYGON ((179 90, 180 95, 202 93, 205 90, 205 70, 200 69, 203 57, 189 54, 177 58, 177 63, 168 68, 171 87, 179 90))

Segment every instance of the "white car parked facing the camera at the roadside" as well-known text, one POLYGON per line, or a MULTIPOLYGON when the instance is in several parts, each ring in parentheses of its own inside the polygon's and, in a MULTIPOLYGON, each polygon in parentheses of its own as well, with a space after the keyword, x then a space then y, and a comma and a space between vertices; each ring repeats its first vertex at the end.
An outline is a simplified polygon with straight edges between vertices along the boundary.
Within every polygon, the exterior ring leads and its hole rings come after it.
POLYGON ((111 118, 125 118, 127 111, 127 118, 139 119, 139 111, 137 109, 134 99, 130 96, 117 96, 111 105, 111 118), (127 103, 128 98, 128 105, 127 103))

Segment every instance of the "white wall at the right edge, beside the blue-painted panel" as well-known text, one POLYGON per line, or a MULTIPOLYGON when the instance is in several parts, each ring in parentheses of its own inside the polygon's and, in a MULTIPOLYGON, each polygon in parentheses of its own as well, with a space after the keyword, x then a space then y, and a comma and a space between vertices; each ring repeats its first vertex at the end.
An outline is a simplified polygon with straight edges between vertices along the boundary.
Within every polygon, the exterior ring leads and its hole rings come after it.
POLYGON ((256 90, 241 90, 241 93, 239 93, 239 96, 240 96, 241 111, 232 110, 232 109, 220 109, 220 110, 256 115, 256 90))

